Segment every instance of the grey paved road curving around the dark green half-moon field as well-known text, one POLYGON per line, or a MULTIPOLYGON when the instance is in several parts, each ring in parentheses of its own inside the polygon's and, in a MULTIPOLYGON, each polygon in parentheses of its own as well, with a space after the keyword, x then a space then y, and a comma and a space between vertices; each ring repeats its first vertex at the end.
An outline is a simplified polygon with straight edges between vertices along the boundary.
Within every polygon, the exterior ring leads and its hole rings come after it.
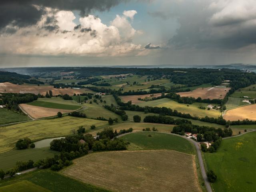
MULTIPOLYGON (((117 138, 122 137, 122 136, 127 135, 127 134, 132 134, 132 133, 136 133, 136 132, 125 133, 125 134, 122 134, 120 136, 117 136, 117 138)), ((200 150, 200 147, 198 145, 198 142, 196 142, 196 141, 194 141, 190 138, 187 138, 185 136, 178 135, 178 134, 167 133, 167 132, 158 132, 158 133, 164 133, 164 134, 170 134, 170 135, 175 135, 175 136, 182 137, 182 138, 192 142, 194 144, 194 146, 196 146, 196 152, 197 152, 197 155, 198 155, 198 160, 199 160, 200 169, 201 169, 201 172, 202 172, 202 177, 204 179, 204 185, 206 186, 206 189, 207 189, 208 192, 212 192, 210 182, 208 181, 208 178, 206 176, 206 171, 205 171, 205 168, 204 168, 204 161, 203 161, 203 158, 202 158, 202 154, 201 154, 201 150, 200 150)))

